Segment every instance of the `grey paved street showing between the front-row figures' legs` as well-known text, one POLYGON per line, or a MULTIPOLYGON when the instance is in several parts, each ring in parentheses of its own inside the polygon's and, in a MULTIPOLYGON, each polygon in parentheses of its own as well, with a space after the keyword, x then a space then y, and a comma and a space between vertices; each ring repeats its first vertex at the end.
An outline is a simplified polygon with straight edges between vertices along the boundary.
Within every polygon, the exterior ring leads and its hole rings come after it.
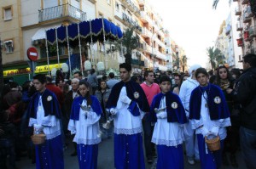
MULTIPOLYGON (((78 169, 79 164, 77 157, 71 157, 70 154, 73 152, 73 145, 71 142, 68 143, 67 149, 65 150, 65 168, 66 169, 78 169)), ((241 159, 241 153, 237 155, 239 162, 239 169, 245 169, 245 164, 241 159)), ((185 169, 199 169, 200 164, 197 163, 195 166, 190 166, 187 161, 184 161, 185 169)), ((20 169, 34 169, 35 164, 31 163, 27 157, 23 157, 21 161, 17 161, 17 166, 20 169)), ((105 139, 99 145, 99 156, 98 156, 98 169, 113 169, 113 139, 105 139)), ((153 169, 154 165, 148 165, 147 169, 153 169)), ((222 169, 234 169, 232 166, 223 166, 222 169)))

